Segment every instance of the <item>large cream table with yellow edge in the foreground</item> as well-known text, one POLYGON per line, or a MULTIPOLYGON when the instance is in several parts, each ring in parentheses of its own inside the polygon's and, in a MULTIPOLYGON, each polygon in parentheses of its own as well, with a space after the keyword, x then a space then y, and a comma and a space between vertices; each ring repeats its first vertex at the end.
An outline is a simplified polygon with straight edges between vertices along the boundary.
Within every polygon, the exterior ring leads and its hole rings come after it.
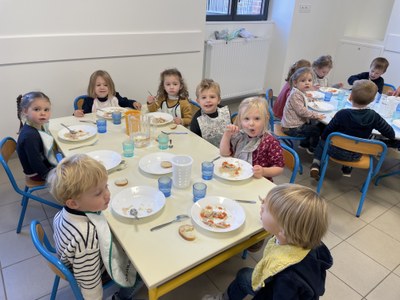
MULTIPOLYGON (((73 116, 50 120, 50 131, 56 138, 60 150, 65 156, 75 153, 87 153, 94 150, 112 150, 122 153, 122 141, 128 138, 125 131, 125 121, 114 125, 107 121, 107 133, 96 134, 81 142, 68 142, 58 137, 63 128, 60 124, 77 125, 81 120, 94 121, 96 115, 87 114, 84 118, 73 116), (89 145, 76 150, 71 148, 79 145, 89 145)), ((274 186, 265 178, 233 181, 214 176, 212 180, 201 178, 201 162, 210 161, 219 155, 219 149, 204 139, 190 132, 183 126, 171 130, 169 125, 157 126, 152 130, 151 143, 144 148, 135 148, 134 156, 123 157, 127 168, 112 172, 109 175, 111 203, 113 198, 122 190, 134 186, 150 186, 157 188, 160 175, 149 174, 139 168, 140 159, 156 152, 187 154, 193 158, 191 183, 204 182, 207 184, 207 196, 222 196, 229 199, 256 200, 257 204, 240 203, 245 212, 245 222, 236 230, 230 232, 214 232, 198 226, 193 219, 174 223, 157 231, 150 228, 173 220, 177 215, 191 215, 194 205, 192 200, 192 184, 185 189, 172 188, 172 195, 166 198, 165 206, 157 213, 139 220, 125 218, 115 213, 109 206, 104 211, 109 226, 118 239, 136 270, 149 289, 149 299, 158 299, 188 280, 206 272, 226 259, 247 249, 250 245, 263 240, 268 233, 264 231, 260 220, 259 196, 265 197, 274 186), (187 134, 171 134, 172 148, 159 150, 155 140, 161 130, 168 132, 186 132, 187 134), (119 187, 115 181, 126 178, 128 185, 119 187), (184 240, 178 233, 182 224, 192 224, 195 228, 196 239, 184 240)), ((172 176, 172 174, 171 174, 172 176)))

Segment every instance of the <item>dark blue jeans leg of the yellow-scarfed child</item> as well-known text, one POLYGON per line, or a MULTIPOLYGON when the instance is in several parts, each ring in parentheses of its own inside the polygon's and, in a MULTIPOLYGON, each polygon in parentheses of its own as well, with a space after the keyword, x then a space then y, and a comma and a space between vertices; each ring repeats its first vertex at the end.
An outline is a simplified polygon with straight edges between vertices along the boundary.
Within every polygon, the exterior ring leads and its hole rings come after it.
POLYGON ((243 268, 237 272, 236 278, 228 287, 229 300, 242 300, 247 295, 255 295, 253 288, 251 287, 252 274, 252 268, 243 268))

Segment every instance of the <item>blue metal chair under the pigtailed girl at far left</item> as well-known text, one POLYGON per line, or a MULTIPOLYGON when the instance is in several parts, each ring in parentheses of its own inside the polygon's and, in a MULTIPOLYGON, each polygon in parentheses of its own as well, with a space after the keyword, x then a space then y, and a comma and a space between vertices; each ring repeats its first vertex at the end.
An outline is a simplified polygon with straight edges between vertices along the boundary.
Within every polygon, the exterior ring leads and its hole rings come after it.
POLYGON ((35 191, 43 190, 43 189, 47 188, 47 186, 45 185, 45 182, 35 182, 35 181, 30 180, 28 177, 26 177, 25 178, 25 188, 23 190, 19 188, 19 186, 14 178, 14 175, 8 165, 8 161, 9 161, 10 157, 15 153, 15 151, 17 149, 17 143, 12 137, 4 138, 0 142, 0 149, 1 149, 0 162, 1 162, 4 170, 7 173, 8 179, 10 180, 12 187, 18 194, 20 194, 22 196, 22 200, 21 200, 22 210, 21 210, 21 214, 20 214, 18 226, 17 226, 17 233, 20 233, 22 223, 24 222, 24 218, 25 218, 26 208, 28 207, 29 199, 38 201, 42 204, 49 205, 56 209, 61 209, 62 206, 33 194, 33 192, 35 192, 35 191))

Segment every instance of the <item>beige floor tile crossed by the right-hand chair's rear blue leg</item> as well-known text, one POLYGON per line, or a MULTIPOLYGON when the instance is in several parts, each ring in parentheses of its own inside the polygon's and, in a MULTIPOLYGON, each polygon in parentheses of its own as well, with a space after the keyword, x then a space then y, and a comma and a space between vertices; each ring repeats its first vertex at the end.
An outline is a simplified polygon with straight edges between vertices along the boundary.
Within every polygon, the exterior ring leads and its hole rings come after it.
MULTIPOLYGON (((358 205, 360 203, 361 193, 357 190, 351 190, 339 197, 333 199, 331 203, 340 206, 344 210, 348 211, 352 215, 356 215, 358 205)), ((360 214, 360 219, 364 220, 365 222, 371 222, 372 220, 376 219, 378 216, 383 214, 387 211, 392 204, 386 202, 386 206, 382 205, 382 202, 373 201, 371 198, 365 198, 363 208, 360 214)))

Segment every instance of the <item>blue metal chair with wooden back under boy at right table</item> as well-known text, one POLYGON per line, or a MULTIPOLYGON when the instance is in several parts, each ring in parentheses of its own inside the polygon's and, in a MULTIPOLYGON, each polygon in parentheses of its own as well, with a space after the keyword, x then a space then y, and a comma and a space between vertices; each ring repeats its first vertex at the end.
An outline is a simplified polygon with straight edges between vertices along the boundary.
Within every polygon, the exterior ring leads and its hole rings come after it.
POLYGON ((361 214, 361 210, 364 204, 365 197, 368 192, 369 183, 371 179, 378 174, 383 160, 386 157, 387 147, 385 143, 378 140, 370 140, 370 139, 362 139, 358 137, 354 137, 351 135, 332 132, 328 135, 324 150, 322 152, 321 158, 321 177, 318 181, 317 185, 317 193, 319 194, 322 188, 322 183, 324 182, 324 177, 326 173, 326 169, 328 167, 329 160, 332 160, 338 164, 359 168, 359 169, 368 169, 367 178, 361 188, 361 198, 358 204, 358 209, 356 216, 359 217, 361 214), (352 151, 356 153, 360 153, 362 156, 358 161, 343 161, 332 158, 328 154, 328 149, 330 146, 335 146, 347 151, 352 151), (377 159, 377 163, 374 166, 374 160, 377 159))

